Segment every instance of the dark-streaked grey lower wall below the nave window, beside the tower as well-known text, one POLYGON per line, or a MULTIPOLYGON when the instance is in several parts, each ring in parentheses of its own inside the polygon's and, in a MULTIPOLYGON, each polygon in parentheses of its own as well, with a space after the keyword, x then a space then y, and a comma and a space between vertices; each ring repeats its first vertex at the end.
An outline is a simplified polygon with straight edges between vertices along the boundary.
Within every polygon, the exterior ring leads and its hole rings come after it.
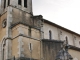
POLYGON ((62 44, 62 41, 43 39, 42 45, 44 60, 55 60, 62 44))

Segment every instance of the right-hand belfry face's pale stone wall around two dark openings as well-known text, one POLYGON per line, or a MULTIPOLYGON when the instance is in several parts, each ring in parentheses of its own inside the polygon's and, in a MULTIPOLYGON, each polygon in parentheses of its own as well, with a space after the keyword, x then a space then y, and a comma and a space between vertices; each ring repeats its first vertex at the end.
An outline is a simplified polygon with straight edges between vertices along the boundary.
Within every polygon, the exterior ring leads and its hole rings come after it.
POLYGON ((32 13, 32 0, 27 0, 27 8, 24 7, 24 0, 22 0, 21 3, 22 3, 22 5, 18 5, 18 0, 16 0, 16 1, 15 0, 11 0, 10 5, 14 6, 16 8, 19 8, 19 9, 21 9, 23 11, 26 11, 28 13, 32 13))

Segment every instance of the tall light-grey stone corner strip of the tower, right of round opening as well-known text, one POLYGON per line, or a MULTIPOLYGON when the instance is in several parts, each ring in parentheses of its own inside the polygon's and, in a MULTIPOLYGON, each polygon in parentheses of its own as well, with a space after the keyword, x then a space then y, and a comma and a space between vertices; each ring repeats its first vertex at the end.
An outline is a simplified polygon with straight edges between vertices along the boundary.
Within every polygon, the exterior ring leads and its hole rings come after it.
POLYGON ((7 26, 6 26, 6 59, 10 59, 12 56, 11 56, 11 37, 12 37, 12 34, 11 34, 11 29, 10 29, 10 26, 11 26, 11 23, 12 23, 12 7, 8 7, 7 8, 7 26))

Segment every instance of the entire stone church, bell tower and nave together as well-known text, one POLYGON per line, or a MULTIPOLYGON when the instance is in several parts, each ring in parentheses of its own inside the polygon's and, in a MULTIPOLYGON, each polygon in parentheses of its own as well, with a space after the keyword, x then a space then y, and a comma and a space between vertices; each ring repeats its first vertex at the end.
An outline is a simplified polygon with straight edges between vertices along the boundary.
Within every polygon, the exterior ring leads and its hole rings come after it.
POLYGON ((80 60, 80 34, 34 16, 32 0, 1 0, 0 60, 80 60))

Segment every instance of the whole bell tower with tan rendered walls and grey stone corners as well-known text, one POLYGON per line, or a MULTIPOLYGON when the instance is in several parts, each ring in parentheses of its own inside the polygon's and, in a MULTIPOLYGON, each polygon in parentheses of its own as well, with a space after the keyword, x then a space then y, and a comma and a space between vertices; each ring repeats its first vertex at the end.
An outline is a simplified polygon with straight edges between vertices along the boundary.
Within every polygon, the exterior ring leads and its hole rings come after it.
POLYGON ((0 60, 41 60, 42 16, 32 0, 1 0, 0 60))

